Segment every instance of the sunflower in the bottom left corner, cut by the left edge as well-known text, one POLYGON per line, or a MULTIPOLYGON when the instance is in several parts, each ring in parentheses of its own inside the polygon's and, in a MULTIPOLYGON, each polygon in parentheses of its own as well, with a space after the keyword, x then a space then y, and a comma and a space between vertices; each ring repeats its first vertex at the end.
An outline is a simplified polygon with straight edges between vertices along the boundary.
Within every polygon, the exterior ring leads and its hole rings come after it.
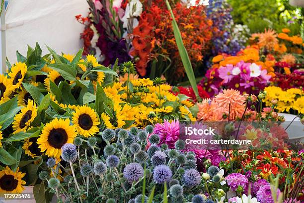
POLYGON ((10 170, 8 166, 0 171, 0 194, 7 193, 22 193, 25 184, 25 181, 22 178, 25 176, 25 173, 19 172, 17 168, 16 172, 10 170))

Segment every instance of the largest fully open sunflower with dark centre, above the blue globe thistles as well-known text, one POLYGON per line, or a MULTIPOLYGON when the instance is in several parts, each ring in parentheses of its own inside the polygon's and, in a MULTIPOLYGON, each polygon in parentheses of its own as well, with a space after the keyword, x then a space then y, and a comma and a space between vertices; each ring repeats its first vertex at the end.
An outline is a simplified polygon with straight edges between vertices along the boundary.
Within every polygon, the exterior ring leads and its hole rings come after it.
POLYGON ((61 147, 66 143, 73 143, 76 135, 75 127, 70 125, 70 119, 55 118, 44 126, 37 143, 41 152, 46 151, 49 157, 60 157, 61 147))

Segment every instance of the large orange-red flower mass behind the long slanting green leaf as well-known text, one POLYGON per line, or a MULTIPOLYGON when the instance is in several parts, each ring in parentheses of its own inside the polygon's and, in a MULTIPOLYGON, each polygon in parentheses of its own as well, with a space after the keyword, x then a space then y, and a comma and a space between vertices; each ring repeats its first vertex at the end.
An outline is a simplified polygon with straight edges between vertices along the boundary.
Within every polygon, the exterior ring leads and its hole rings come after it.
MULTIPOLYGON (((139 26, 134 29, 131 50, 139 74, 146 75, 148 62, 162 55, 171 59, 168 75, 183 77, 184 69, 175 42, 172 18, 166 5, 162 0, 155 0, 151 5, 146 2, 144 5, 146 10, 140 17, 139 26)), ((203 53, 208 49, 212 37, 212 21, 207 19, 205 8, 204 5, 188 8, 186 4, 179 2, 172 7, 193 65, 202 61, 203 53)))

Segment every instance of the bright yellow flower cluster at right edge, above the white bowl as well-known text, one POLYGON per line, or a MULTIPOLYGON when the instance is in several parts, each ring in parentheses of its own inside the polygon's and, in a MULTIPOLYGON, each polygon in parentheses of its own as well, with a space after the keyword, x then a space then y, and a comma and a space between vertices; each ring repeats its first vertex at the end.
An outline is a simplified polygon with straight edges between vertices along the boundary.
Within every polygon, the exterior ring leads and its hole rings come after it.
POLYGON ((279 112, 297 110, 298 113, 304 113, 304 91, 292 88, 287 91, 279 87, 269 86, 264 89, 267 92, 263 102, 267 106, 275 104, 275 109, 279 112))

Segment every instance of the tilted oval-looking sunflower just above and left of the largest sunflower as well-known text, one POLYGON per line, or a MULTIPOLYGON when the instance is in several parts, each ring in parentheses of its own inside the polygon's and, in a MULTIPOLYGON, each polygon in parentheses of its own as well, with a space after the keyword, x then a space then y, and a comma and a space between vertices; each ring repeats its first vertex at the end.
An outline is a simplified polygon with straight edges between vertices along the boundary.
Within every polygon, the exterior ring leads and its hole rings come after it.
POLYGON ((36 103, 29 100, 27 106, 21 109, 21 112, 15 115, 13 124, 14 133, 25 132, 30 123, 37 116, 36 103))

